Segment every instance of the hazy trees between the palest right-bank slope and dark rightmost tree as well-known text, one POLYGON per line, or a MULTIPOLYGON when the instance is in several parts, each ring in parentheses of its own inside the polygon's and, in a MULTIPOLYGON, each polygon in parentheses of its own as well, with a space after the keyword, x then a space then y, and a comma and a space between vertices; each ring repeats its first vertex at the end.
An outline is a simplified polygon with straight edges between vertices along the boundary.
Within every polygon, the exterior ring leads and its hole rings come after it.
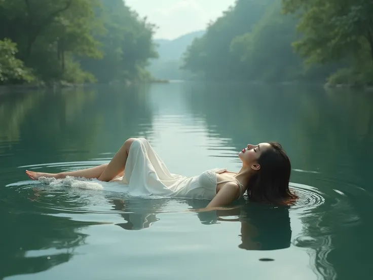
POLYGON ((239 58, 245 78, 265 81, 300 79, 302 60, 293 53, 296 19, 280 14, 281 3, 272 4, 252 31, 237 36, 231 55, 239 58))

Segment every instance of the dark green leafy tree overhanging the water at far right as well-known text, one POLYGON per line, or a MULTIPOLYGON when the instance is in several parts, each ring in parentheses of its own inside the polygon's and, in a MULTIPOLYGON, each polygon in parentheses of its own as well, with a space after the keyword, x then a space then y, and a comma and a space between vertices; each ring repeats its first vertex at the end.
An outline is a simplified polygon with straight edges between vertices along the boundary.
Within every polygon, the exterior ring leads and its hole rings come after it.
POLYGON ((293 46, 306 63, 345 61, 350 68, 329 82, 373 82, 373 2, 370 0, 282 0, 284 13, 300 18, 302 37, 293 46), (343 81, 344 80, 344 81, 343 81))

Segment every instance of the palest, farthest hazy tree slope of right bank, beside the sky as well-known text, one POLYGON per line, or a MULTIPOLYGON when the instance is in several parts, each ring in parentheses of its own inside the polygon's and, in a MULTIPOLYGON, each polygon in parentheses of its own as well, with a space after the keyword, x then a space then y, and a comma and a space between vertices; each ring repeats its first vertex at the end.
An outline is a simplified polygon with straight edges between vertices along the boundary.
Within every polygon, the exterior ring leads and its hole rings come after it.
POLYGON ((196 39, 184 54, 182 68, 201 73, 212 80, 236 79, 242 76, 239 60, 230 54, 232 41, 250 32, 274 0, 238 0, 215 22, 205 35, 196 39))

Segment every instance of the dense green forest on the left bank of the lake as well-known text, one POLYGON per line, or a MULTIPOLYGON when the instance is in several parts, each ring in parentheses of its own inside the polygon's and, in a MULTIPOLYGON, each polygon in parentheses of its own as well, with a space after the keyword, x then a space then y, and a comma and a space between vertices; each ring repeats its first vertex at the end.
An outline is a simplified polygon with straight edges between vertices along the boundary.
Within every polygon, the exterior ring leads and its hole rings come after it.
POLYGON ((0 0, 0 84, 136 81, 155 26, 122 0, 0 0))

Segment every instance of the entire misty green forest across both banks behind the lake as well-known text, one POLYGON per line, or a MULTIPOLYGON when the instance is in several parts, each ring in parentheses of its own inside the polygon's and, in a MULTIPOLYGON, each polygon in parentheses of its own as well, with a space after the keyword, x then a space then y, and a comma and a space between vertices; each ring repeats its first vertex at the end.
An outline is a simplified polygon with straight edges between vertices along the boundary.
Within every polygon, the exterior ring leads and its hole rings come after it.
POLYGON ((179 50, 190 36, 157 49, 156 26, 122 0, 0 0, 0 85, 149 81, 150 71, 372 85, 372 14, 370 0, 236 0, 179 50), (184 54, 157 60, 167 46, 184 54))

